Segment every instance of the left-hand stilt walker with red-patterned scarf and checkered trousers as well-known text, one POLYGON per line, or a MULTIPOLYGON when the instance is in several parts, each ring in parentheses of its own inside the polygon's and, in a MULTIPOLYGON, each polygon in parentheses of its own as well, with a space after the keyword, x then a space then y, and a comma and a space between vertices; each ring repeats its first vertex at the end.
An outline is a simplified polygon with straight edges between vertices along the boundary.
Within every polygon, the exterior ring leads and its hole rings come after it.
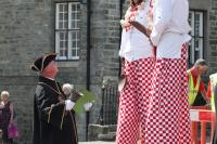
POLYGON ((150 0, 130 1, 125 19, 120 21, 123 35, 119 55, 125 63, 123 75, 127 82, 119 97, 116 144, 137 144, 140 131, 144 141, 146 106, 155 63, 153 45, 145 31, 141 30, 149 26, 150 0))

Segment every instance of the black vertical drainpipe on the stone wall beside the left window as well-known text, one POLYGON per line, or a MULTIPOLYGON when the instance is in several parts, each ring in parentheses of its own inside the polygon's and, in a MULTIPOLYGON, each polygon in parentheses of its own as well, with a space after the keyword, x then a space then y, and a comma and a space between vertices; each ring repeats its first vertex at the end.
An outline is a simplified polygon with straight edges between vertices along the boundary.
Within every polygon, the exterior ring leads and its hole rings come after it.
MULTIPOLYGON (((90 16, 91 16, 91 0, 87 0, 87 90, 90 90, 90 16)), ((90 113, 86 113, 86 141, 88 141, 88 126, 90 122, 90 113)))

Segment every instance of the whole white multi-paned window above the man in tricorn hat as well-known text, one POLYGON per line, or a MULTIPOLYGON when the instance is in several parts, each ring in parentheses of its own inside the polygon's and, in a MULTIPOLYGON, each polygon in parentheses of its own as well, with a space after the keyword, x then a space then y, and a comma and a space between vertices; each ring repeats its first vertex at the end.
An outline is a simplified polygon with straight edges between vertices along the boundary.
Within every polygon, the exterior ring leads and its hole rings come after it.
POLYGON ((58 60, 79 60, 80 3, 55 3, 55 52, 58 60))

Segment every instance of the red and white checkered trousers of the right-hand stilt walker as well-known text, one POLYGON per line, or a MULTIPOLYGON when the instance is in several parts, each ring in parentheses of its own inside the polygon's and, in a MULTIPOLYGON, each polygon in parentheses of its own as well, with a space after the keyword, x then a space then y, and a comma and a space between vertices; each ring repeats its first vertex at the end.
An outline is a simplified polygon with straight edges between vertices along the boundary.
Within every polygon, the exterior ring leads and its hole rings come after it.
MULTIPOLYGON (((181 58, 156 60, 145 123, 145 144, 190 144, 187 44, 181 58)), ((131 143, 132 144, 132 143, 131 143)))

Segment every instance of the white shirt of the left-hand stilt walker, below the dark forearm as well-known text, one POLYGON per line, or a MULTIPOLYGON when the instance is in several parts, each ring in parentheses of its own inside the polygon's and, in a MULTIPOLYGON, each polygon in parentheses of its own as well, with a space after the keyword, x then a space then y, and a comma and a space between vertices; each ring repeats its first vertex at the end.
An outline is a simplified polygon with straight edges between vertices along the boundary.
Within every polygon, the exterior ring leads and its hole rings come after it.
MULTIPOLYGON (((139 14, 136 16, 136 21, 145 27, 149 26, 149 0, 145 1, 144 9, 140 10, 139 14)), ((123 29, 119 56, 125 57, 128 62, 153 57, 153 47, 151 45, 149 38, 137 28, 132 27, 128 31, 123 29)))

